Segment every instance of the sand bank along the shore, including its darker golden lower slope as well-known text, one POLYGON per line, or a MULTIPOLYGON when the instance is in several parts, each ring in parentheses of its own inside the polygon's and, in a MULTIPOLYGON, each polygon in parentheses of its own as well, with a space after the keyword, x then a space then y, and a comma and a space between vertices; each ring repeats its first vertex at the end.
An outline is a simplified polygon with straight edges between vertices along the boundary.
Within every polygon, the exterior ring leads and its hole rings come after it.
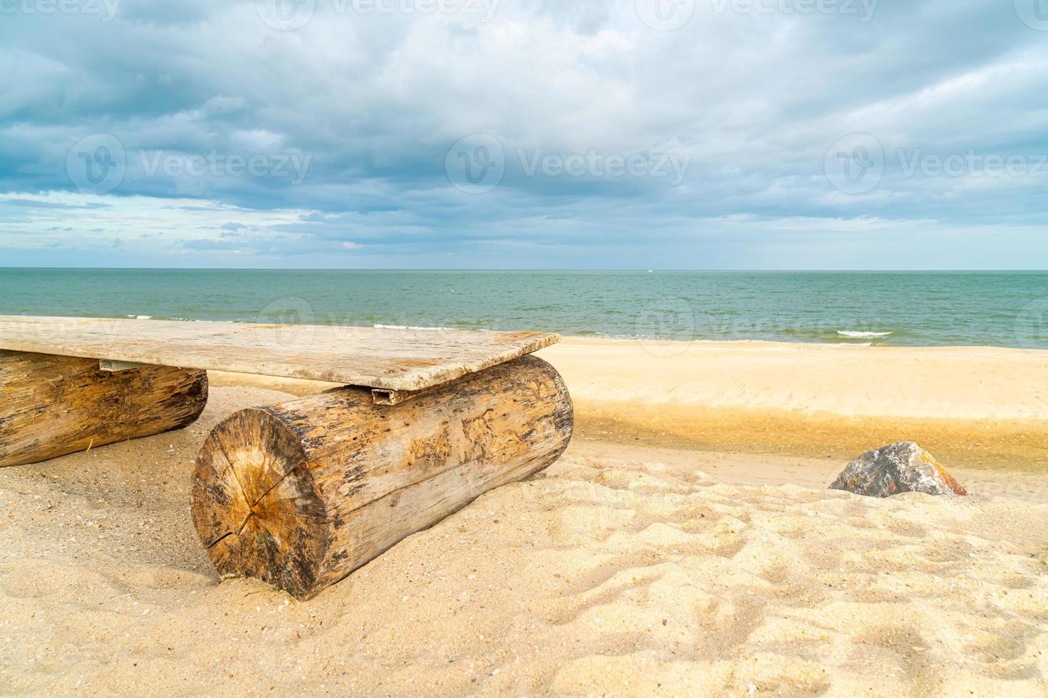
POLYGON ((978 470, 1048 473, 1048 352, 569 339, 583 435, 848 460, 916 441, 978 470))

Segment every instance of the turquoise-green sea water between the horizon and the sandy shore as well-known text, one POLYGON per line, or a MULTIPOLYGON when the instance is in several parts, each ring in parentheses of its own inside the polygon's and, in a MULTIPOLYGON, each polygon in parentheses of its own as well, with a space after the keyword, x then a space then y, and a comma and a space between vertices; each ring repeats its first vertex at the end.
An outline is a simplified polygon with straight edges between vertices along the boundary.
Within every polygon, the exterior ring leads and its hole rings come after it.
POLYGON ((1048 272, 0 269, 0 314, 1048 348, 1048 272))

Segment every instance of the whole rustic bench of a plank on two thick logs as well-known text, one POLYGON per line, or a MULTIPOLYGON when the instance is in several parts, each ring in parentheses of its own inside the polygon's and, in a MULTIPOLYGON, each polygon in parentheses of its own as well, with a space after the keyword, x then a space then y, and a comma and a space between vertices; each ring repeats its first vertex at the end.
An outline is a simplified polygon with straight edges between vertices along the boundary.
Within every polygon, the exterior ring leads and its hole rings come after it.
POLYGON ((567 448, 552 334, 0 316, 0 466, 192 424, 208 370, 342 383, 222 421, 191 511, 223 577, 314 595, 567 448))

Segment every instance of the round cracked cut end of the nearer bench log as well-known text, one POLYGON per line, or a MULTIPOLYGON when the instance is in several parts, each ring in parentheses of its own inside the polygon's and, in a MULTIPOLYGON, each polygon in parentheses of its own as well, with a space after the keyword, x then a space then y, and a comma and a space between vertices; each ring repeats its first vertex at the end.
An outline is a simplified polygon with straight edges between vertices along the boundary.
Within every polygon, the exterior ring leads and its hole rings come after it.
POLYGON ((265 409, 218 425, 197 456, 192 513, 216 570, 308 592, 327 548, 327 514, 294 433, 265 409))

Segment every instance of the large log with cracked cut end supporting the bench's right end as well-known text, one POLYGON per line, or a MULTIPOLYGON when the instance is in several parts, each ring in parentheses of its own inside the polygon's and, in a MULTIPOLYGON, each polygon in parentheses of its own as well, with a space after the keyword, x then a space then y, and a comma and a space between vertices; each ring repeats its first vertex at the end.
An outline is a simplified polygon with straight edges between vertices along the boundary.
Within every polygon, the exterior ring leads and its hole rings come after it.
POLYGON ((192 512, 223 577, 308 599, 571 438, 556 370, 525 356, 414 400, 345 387, 239 411, 196 460, 192 512))

